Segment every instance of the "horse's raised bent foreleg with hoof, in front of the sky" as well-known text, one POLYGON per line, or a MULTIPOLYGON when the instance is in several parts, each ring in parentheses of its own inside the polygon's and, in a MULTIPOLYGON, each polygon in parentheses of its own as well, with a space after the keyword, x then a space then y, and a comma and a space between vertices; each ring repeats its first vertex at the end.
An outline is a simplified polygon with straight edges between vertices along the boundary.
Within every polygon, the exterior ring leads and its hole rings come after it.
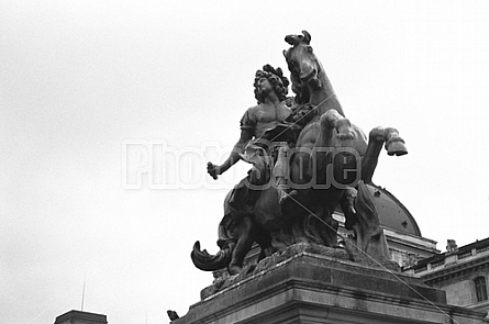
POLYGON ((368 146, 362 159, 362 180, 371 183, 371 177, 379 160, 382 144, 386 143, 388 155, 401 156, 408 154, 404 141, 399 137, 399 132, 392 127, 376 127, 368 134, 368 146))

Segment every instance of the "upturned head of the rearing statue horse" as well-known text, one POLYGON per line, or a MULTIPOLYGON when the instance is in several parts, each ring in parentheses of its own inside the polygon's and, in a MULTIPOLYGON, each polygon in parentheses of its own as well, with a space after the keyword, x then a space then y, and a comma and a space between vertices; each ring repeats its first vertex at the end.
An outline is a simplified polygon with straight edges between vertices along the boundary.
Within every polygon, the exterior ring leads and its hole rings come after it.
POLYGON ((286 36, 286 42, 292 47, 284 51, 291 74, 292 90, 298 96, 303 96, 308 86, 312 90, 321 88, 322 67, 310 45, 311 35, 307 31, 302 31, 302 34, 286 36))

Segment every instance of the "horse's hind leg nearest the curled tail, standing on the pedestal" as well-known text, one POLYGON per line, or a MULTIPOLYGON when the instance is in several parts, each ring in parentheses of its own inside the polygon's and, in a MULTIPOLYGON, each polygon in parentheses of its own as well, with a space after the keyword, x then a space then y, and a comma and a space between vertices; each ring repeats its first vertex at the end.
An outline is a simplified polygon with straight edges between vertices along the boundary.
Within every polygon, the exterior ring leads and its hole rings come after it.
POLYGON ((249 216, 244 216, 240 222, 238 239, 231 256, 231 262, 227 266, 227 271, 231 276, 240 273, 243 269, 243 260, 246 254, 252 248, 253 238, 253 223, 249 216))

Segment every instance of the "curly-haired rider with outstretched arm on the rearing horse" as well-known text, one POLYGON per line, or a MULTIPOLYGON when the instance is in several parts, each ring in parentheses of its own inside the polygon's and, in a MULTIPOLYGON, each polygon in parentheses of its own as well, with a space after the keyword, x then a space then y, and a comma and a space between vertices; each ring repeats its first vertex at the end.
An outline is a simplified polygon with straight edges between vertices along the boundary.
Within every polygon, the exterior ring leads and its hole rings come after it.
MULTIPOLYGON (((263 70, 256 71, 253 85, 258 105, 246 110, 241 119, 241 136, 227 159, 221 166, 208 164, 208 172, 214 179, 243 157, 245 147, 251 141, 258 139, 266 130, 284 123, 291 112, 286 104, 289 81, 280 68, 275 69, 270 65, 265 65, 263 70)), ((266 185, 269 176, 269 168, 254 165, 248 176, 234 188, 229 200, 230 211, 226 213, 252 213, 260 192, 256 186, 266 185)))

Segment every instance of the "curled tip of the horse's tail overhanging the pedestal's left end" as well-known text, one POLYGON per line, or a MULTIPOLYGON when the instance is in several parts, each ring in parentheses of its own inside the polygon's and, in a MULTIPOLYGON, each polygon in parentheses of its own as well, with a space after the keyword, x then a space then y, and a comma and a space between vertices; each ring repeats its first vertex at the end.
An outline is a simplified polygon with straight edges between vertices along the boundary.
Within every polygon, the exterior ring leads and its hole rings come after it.
POLYGON ((200 242, 197 241, 193 245, 190 257, 193 265, 200 270, 215 271, 227 267, 231 262, 231 256, 233 254, 234 244, 227 244, 216 255, 209 254, 205 249, 200 250, 200 242))

